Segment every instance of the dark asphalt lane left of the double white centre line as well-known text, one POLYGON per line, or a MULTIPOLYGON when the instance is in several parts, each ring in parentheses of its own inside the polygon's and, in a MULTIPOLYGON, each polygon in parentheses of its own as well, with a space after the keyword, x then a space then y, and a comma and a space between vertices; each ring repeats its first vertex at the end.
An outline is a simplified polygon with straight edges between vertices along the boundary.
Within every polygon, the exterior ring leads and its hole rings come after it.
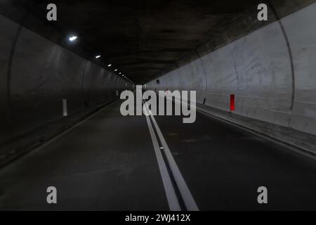
POLYGON ((0 209, 169 210, 146 120, 121 116, 120 103, 1 169, 0 209))

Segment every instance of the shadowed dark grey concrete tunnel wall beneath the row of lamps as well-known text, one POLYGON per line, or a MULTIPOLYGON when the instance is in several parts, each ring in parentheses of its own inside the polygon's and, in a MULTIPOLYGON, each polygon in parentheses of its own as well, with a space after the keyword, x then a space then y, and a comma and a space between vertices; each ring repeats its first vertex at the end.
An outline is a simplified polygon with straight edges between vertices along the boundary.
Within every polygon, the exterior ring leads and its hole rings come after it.
POLYGON ((118 98, 126 81, 0 15, 0 143, 118 98))

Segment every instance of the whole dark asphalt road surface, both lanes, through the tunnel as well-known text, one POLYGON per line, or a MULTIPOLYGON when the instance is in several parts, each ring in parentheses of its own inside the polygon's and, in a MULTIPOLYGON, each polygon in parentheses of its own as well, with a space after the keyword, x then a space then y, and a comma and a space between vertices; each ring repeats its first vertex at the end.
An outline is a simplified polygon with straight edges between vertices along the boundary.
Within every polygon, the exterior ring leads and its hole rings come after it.
POLYGON ((155 116, 162 140, 151 117, 124 117, 120 104, 1 169, 0 210, 171 210, 176 200, 181 210, 316 210, 315 160, 202 113, 192 124, 155 116))

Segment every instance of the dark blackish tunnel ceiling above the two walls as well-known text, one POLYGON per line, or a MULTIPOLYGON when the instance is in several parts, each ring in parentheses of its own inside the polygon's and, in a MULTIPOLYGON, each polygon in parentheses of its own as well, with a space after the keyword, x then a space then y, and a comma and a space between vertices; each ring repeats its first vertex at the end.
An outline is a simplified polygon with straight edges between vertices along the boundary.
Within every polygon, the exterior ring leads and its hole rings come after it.
MULTIPOLYGON (((102 55, 135 83, 161 75, 201 41, 230 25, 254 1, 52 1, 65 33, 78 35, 79 44, 102 55)), ((32 11, 46 20, 51 1, 34 1, 32 11)))

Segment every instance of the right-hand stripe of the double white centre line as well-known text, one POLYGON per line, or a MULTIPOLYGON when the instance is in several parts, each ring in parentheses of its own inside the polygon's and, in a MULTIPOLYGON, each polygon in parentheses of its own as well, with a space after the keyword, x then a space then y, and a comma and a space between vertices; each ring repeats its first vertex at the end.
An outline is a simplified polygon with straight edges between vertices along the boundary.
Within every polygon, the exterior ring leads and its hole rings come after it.
POLYGON ((198 211, 199 208, 197 207, 197 203, 195 203, 195 200, 192 197, 192 194, 189 188, 187 187, 187 184, 185 183, 185 180, 183 179, 182 174, 180 173, 180 169, 178 168, 178 165, 176 165, 176 161, 173 159, 169 146, 167 145, 166 140, 164 139, 164 136, 162 135, 162 131, 159 129, 159 126, 156 120, 154 120, 154 116, 152 115, 152 112, 148 108, 147 103, 145 103, 145 108, 147 112, 149 112, 150 117, 152 119, 152 123, 154 124, 154 127, 156 128, 157 134, 162 143, 162 147, 164 148, 164 153, 166 154, 166 158, 169 162, 169 166, 171 168, 173 177, 176 181, 176 184, 179 188, 179 191, 185 203, 185 207, 189 211, 198 211))

